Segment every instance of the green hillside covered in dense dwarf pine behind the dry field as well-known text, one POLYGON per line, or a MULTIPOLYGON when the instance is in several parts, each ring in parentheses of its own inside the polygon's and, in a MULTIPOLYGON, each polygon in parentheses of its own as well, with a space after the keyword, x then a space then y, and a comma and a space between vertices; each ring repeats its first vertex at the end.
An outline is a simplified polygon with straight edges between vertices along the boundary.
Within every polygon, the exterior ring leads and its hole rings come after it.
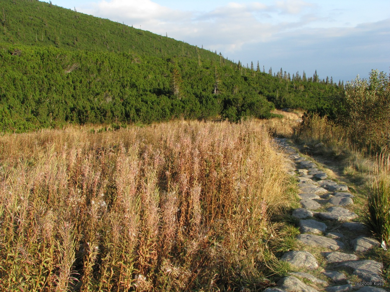
POLYGON ((272 75, 46 2, 0 4, 0 131, 177 117, 266 118, 273 107, 332 113, 342 86, 272 75))

